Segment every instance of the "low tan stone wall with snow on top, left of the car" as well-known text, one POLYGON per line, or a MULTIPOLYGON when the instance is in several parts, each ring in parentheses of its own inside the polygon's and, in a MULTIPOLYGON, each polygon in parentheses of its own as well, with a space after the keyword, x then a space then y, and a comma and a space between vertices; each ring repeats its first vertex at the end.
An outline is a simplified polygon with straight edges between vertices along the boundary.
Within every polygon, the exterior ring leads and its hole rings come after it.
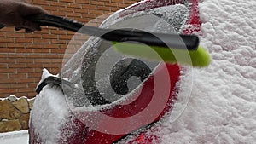
POLYGON ((0 100, 0 133, 27 130, 34 99, 10 95, 0 100))

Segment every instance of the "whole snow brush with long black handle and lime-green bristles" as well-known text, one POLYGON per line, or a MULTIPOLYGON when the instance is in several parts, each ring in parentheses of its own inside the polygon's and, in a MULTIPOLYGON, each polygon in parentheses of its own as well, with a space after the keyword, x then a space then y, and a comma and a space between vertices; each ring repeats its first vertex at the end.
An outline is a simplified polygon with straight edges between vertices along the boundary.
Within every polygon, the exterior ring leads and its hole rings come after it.
POLYGON ((114 48, 125 55, 199 67, 208 66, 211 61, 207 51, 198 47, 199 37, 195 35, 103 29, 84 26, 83 23, 51 14, 31 15, 26 17, 26 20, 38 23, 39 26, 53 26, 90 36, 102 37, 104 40, 111 41, 114 48), (158 55, 152 55, 152 50, 149 50, 148 47, 154 49, 158 55))

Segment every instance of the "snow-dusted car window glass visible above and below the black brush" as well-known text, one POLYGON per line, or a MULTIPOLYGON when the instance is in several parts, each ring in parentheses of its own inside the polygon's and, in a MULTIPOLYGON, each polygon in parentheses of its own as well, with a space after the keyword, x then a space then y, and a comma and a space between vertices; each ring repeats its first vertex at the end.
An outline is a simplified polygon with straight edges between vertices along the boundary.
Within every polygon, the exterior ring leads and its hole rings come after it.
MULTIPOLYGON (((102 27, 179 33, 187 22, 188 14, 185 5, 170 5, 121 17, 113 14, 102 23, 102 27)), ((74 106, 84 106, 88 101, 93 106, 103 105, 127 97, 138 89, 159 64, 159 61, 121 54, 114 49, 113 43, 90 37, 65 62, 61 78, 77 85, 75 92, 67 92, 67 98, 73 101, 74 106)))

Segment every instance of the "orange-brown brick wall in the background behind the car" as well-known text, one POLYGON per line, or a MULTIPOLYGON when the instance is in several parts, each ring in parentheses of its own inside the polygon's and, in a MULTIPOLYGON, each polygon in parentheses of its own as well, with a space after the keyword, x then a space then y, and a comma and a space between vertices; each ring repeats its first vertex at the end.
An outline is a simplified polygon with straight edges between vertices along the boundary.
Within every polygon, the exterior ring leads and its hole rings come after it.
MULTIPOLYGON (((50 14, 87 23, 104 14, 111 14, 140 0, 31 0, 50 14)), ((101 20, 96 20, 100 22, 101 20)), ((32 98, 42 69, 57 73, 74 32, 43 28, 41 32, 15 32, 13 27, 0 30, 0 97, 8 95, 32 98)), ((81 43, 74 43, 79 49, 81 43)))

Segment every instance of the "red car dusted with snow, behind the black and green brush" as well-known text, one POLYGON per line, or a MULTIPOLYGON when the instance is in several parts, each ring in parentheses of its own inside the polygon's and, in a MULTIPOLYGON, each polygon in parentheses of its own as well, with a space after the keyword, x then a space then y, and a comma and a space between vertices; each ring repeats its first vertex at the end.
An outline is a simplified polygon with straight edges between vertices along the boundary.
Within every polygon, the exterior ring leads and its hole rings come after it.
MULTIPOLYGON (((200 32, 197 3, 146 0, 112 14, 102 27, 200 32)), ((172 109, 187 70, 119 54, 112 44, 90 37, 58 75, 44 70, 30 119, 31 144, 113 143, 127 135, 134 135, 129 142, 152 143, 157 137, 143 130, 166 114, 179 116, 172 109)))

